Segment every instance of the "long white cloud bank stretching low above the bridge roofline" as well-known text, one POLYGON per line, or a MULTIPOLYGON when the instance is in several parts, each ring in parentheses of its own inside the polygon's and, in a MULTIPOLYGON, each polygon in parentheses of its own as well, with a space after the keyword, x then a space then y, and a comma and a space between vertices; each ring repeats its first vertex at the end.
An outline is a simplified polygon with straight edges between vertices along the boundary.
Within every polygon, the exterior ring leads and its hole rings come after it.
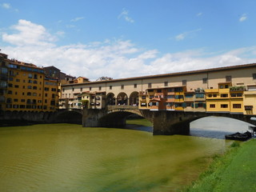
POLYGON ((43 26, 25 20, 20 20, 14 30, 18 33, 2 35, 12 44, 1 47, 2 53, 9 54, 9 58, 37 66, 56 66, 66 74, 85 76, 90 80, 102 76, 130 78, 232 66, 255 62, 256 58, 256 46, 215 54, 203 49, 161 54, 158 50, 144 50, 122 39, 57 46, 54 35, 43 26))

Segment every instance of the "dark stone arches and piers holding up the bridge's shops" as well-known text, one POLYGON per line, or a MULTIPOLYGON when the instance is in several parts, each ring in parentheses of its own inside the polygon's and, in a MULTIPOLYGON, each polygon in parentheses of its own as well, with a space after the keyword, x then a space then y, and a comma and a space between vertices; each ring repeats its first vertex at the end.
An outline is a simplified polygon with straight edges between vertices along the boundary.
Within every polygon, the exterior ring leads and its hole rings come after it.
POLYGON ((126 117, 138 114, 153 123, 153 134, 190 134, 190 122, 207 116, 235 118, 254 124, 252 116, 230 113, 184 112, 170 110, 138 110, 138 106, 108 106, 105 110, 84 109, 82 126, 84 127, 124 127, 126 117))

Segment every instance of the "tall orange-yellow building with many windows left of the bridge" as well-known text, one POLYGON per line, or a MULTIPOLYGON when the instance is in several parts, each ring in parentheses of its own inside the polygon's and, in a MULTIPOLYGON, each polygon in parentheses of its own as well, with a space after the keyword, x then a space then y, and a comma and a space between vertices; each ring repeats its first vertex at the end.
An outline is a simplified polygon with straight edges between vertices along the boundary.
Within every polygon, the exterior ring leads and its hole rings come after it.
POLYGON ((31 63, 6 58, 6 106, 10 111, 54 111, 58 108, 58 80, 31 63))

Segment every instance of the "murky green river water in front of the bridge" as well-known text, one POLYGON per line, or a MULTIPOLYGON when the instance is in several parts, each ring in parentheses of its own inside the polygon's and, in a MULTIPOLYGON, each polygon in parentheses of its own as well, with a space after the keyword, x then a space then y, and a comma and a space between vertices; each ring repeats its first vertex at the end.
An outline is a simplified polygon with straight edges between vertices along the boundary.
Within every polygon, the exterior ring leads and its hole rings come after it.
POLYGON ((0 127, 0 191, 177 191, 229 145, 73 124, 0 127))

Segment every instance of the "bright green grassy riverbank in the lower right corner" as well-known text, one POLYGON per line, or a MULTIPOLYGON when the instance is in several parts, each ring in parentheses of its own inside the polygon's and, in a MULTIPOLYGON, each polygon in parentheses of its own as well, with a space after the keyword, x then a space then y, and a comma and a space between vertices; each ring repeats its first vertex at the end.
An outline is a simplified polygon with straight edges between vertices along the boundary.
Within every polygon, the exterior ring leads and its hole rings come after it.
POLYGON ((234 142, 222 156, 201 174, 198 181, 183 189, 186 192, 255 192, 256 139, 234 142))

